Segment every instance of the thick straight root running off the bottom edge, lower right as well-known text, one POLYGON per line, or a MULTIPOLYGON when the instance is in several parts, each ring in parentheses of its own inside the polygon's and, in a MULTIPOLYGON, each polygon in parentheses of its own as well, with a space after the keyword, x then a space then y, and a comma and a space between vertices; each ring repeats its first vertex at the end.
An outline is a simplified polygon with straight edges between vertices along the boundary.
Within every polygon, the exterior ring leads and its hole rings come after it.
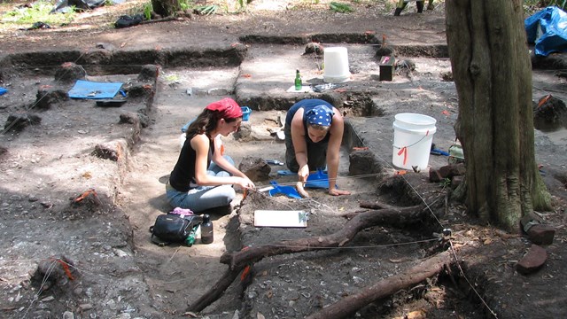
POLYGON ((391 276, 371 285, 363 291, 347 296, 334 304, 323 307, 321 311, 307 316, 307 319, 338 319, 354 315, 356 311, 369 303, 390 296, 401 289, 421 283, 426 278, 439 274, 453 261, 452 252, 439 253, 400 275, 391 276))

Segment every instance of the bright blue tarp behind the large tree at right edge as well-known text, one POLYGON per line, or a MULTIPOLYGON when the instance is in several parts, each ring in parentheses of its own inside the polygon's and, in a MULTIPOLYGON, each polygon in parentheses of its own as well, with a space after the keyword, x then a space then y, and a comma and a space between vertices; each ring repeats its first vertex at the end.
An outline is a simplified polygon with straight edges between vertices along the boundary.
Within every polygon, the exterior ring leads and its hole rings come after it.
POLYGON ((528 43, 535 43, 535 54, 567 51, 567 13, 549 6, 524 20, 528 43))

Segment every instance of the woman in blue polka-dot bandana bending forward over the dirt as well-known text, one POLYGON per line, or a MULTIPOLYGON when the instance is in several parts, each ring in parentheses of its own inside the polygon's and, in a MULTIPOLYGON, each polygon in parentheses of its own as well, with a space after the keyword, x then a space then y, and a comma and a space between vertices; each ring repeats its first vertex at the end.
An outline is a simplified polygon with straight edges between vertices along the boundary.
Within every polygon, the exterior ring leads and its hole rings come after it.
MULTIPOLYGON (((310 171, 326 166, 330 181, 329 194, 350 195, 350 191, 335 187, 344 128, 343 116, 329 102, 308 98, 291 106, 283 128, 285 161, 291 172, 298 173, 298 188, 307 182, 310 171)), ((308 196, 305 192, 302 194, 308 196)))

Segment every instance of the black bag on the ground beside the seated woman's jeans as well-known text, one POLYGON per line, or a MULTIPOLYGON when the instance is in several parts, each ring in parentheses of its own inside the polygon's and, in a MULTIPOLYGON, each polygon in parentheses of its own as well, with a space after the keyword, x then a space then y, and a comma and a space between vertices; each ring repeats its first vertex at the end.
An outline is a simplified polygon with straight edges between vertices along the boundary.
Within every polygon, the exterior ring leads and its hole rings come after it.
POLYGON ((199 215, 160 214, 150 227, 151 241, 157 245, 183 243, 191 230, 203 222, 199 215))

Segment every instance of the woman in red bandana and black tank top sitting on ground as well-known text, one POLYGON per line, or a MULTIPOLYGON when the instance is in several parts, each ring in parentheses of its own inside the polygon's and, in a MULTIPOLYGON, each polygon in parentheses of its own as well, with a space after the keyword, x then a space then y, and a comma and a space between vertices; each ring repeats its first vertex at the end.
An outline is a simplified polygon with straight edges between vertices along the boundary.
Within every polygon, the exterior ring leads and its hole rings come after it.
POLYGON ((232 98, 207 105, 185 132, 179 159, 166 185, 169 204, 195 213, 229 206, 236 192, 233 185, 253 189, 254 183, 221 154, 219 135, 229 136, 242 122, 242 110, 232 98))

